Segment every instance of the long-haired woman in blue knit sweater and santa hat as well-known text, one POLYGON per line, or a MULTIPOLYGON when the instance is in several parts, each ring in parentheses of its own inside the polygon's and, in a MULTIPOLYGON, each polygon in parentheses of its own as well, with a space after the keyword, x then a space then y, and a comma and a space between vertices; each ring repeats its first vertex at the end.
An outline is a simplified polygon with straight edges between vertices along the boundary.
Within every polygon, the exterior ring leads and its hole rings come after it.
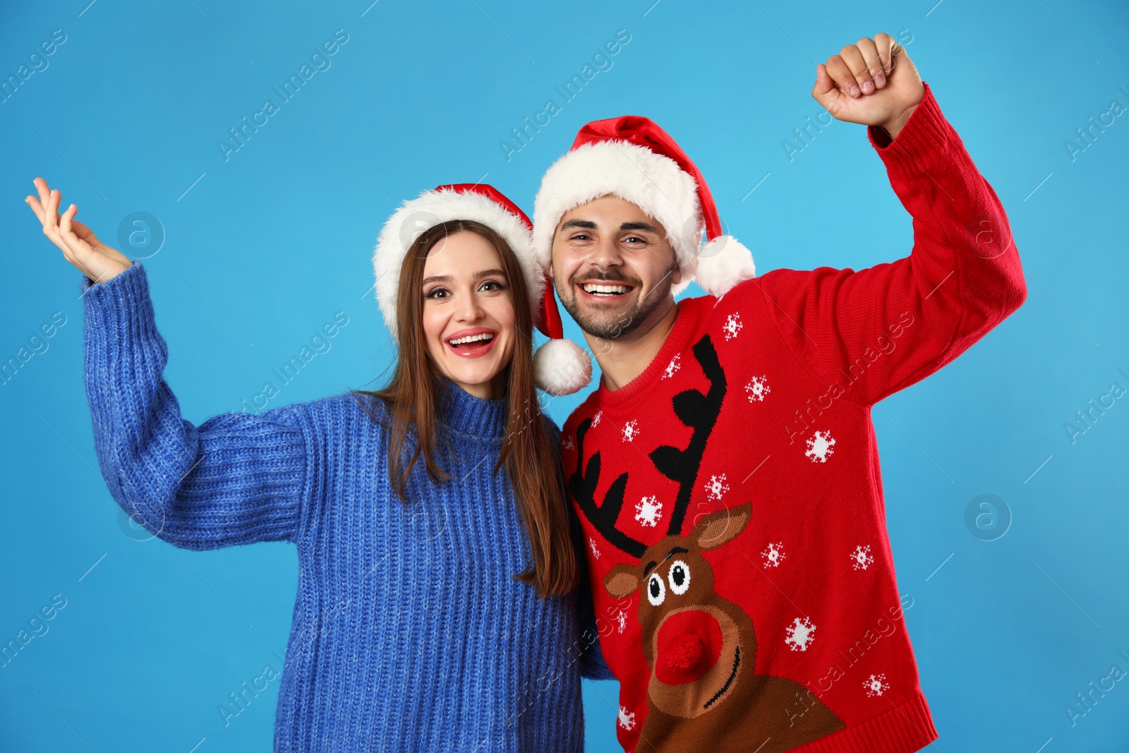
POLYGON ((388 220, 386 388, 194 427, 161 378, 142 263, 35 184, 44 234, 87 275, 86 388, 114 499, 176 546, 298 548, 274 750, 581 750, 580 665, 610 674, 577 619, 590 605, 537 410, 543 278, 520 210, 444 186, 388 220))

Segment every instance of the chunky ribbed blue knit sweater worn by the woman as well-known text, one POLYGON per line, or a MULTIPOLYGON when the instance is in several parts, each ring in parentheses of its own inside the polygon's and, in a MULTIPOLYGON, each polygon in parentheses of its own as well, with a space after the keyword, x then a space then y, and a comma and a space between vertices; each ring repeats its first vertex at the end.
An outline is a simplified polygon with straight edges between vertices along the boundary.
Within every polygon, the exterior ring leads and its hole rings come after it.
POLYGON ((511 577, 531 550, 495 473, 504 400, 448 383, 437 461, 453 480, 418 463, 405 505, 387 430, 351 394, 193 426, 161 377, 142 263, 80 289, 95 447, 119 505, 184 549, 298 548, 275 751, 583 750, 580 667, 611 674, 580 627, 590 599, 542 601, 511 577))

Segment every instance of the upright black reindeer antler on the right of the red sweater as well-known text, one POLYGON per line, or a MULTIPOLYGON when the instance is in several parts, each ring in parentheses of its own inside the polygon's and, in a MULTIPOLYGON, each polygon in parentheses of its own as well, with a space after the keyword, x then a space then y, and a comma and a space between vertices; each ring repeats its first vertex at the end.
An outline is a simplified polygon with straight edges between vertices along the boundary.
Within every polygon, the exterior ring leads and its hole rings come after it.
POLYGON ((686 389, 672 399, 674 414, 694 430, 690 444, 685 449, 663 445, 650 453, 650 461, 658 472, 679 484, 679 496, 674 500, 667 528, 667 535, 672 536, 682 535, 682 523, 686 516, 686 508, 690 507, 690 494, 693 492, 694 481, 701 469, 702 455, 706 454, 706 441, 721 412, 721 401, 725 399, 726 389, 725 371, 717 359, 717 350, 709 335, 703 335, 695 342, 692 350, 702 373, 709 379, 709 392, 703 395, 697 389, 686 389))

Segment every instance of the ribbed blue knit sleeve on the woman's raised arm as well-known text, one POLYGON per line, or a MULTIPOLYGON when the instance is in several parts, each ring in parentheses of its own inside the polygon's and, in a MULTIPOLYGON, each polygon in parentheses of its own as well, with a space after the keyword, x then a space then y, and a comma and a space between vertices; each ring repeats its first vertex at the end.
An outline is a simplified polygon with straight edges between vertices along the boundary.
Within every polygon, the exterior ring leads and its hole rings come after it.
POLYGON ((181 418, 141 262, 80 282, 85 380, 98 465, 140 525, 184 549, 294 540, 306 447, 294 406, 181 418))

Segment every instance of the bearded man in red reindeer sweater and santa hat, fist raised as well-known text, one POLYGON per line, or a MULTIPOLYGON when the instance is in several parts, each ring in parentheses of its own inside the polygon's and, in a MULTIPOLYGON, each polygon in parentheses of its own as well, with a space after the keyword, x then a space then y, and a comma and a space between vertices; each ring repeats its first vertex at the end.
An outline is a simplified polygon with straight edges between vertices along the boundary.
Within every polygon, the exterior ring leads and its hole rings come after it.
POLYGON ((812 96, 868 126, 913 216, 904 259, 755 277, 698 168, 641 117, 586 125, 537 194, 536 253, 603 371, 562 454, 625 751, 937 738, 870 406, 956 358, 1026 286, 996 193, 905 51, 878 34, 816 70, 812 96), (711 295, 675 303, 691 279, 711 295))

